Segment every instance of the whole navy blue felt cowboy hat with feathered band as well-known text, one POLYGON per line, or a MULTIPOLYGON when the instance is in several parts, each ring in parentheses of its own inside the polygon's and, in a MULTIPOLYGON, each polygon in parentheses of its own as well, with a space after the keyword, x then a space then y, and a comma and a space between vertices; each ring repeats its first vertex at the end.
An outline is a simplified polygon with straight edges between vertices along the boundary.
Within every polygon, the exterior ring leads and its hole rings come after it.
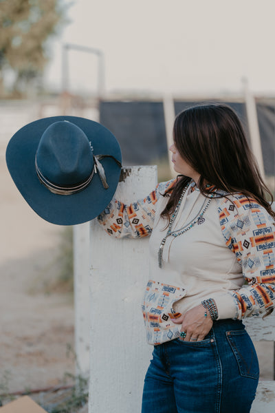
POLYGON ((121 151, 99 123, 54 116, 19 129, 6 161, 21 195, 41 218, 74 225, 96 218, 113 198, 121 151))

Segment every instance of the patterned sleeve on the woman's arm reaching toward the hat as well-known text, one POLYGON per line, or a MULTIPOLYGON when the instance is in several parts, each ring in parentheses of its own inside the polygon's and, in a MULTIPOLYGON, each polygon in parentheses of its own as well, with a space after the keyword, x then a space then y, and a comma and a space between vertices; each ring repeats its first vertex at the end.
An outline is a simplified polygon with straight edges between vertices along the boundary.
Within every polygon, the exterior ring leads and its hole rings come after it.
POLYGON ((176 180, 157 184, 146 198, 129 205, 113 198, 108 207, 98 215, 98 222, 109 235, 117 238, 140 238, 150 235, 153 230, 157 200, 165 191, 172 189, 176 180))

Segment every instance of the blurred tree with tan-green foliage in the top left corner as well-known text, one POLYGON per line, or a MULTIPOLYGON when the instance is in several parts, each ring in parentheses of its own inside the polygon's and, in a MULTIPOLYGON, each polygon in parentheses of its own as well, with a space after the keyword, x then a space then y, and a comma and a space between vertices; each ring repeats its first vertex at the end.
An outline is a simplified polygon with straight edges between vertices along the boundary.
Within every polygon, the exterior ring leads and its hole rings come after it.
POLYGON ((0 94, 3 70, 14 72, 13 92, 39 78, 47 63, 47 40, 65 23, 63 0, 0 0, 0 94))

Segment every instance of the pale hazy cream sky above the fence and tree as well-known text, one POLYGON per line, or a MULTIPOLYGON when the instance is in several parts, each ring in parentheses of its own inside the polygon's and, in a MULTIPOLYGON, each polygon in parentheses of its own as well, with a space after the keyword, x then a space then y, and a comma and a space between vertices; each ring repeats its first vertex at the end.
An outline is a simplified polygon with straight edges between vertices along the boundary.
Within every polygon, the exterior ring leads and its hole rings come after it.
MULTIPOLYGON (((69 0, 63 0, 69 3, 69 0)), ((63 45, 104 54, 104 91, 275 94, 274 0, 74 0, 45 82, 61 89, 63 45)), ((98 56, 69 49, 68 88, 98 87, 98 56)))

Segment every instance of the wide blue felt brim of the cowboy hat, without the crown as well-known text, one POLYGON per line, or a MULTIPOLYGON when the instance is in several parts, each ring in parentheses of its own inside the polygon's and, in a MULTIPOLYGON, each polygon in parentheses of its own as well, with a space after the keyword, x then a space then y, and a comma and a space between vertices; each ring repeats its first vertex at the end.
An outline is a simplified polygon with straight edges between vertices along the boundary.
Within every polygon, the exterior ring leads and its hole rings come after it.
POLYGON ((100 160, 108 189, 104 189, 98 173, 94 173, 83 191, 73 195, 50 192, 36 174, 35 155, 45 129, 60 120, 68 120, 85 132, 94 155, 111 155, 121 162, 120 145, 111 131, 94 120, 76 116, 54 116, 25 125, 12 136, 6 150, 6 162, 21 195, 41 218, 58 225, 81 224, 96 218, 107 207, 118 186, 120 167, 112 158, 100 160))

